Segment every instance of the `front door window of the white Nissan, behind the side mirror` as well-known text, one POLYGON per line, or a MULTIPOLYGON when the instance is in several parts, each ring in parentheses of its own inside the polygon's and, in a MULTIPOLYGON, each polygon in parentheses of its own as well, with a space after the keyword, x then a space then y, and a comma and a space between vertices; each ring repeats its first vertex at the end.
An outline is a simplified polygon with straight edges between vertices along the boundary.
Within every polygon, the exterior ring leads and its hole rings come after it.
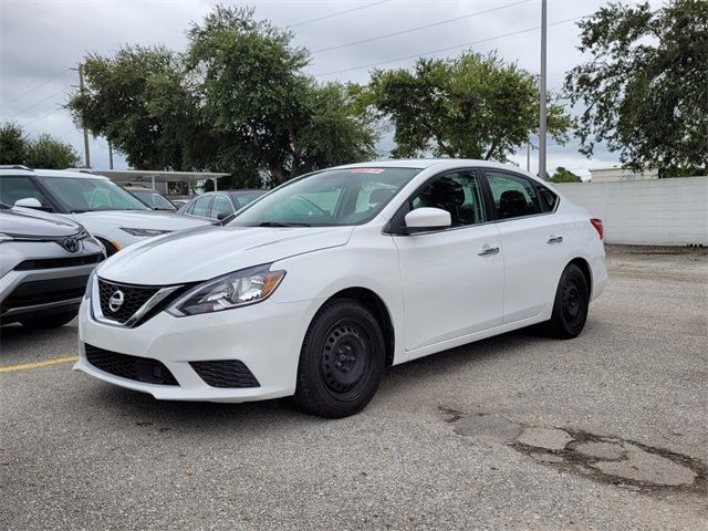
POLYGON ((487 221, 479 179, 471 171, 455 171, 428 183, 410 201, 410 209, 433 207, 450 212, 451 227, 487 221))

